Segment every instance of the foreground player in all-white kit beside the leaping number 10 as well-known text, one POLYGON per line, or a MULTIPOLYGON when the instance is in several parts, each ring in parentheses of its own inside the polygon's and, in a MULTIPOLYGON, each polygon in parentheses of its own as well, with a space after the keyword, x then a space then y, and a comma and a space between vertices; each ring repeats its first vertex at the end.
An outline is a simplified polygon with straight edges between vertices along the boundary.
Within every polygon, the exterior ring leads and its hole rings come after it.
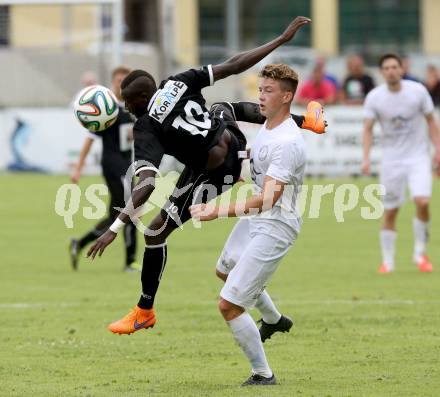
POLYGON ((267 65, 260 77, 259 105, 266 122, 250 150, 255 194, 241 203, 190 207, 193 218, 202 221, 243 216, 232 230, 216 268, 217 275, 225 280, 220 312, 252 367, 252 376, 243 385, 276 383, 264 353, 263 335, 246 309, 256 306, 268 327, 281 325, 274 331, 288 331, 292 326, 277 311, 265 287, 300 231, 296 201, 306 165, 304 140, 290 117, 297 74, 279 64, 267 65))

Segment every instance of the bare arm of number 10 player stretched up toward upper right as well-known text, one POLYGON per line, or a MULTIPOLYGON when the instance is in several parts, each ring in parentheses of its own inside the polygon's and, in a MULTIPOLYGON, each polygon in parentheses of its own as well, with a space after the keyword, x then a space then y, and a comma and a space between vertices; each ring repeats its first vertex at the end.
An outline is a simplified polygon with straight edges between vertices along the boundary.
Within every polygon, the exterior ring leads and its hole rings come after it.
POLYGON ((256 65, 273 50, 292 40, 296 32, 302 26, 307 25, 310 22, 311 20, 309 18, 296 17, 286 28, 286 30, 276 39, 253 50, 234 55, 232 58, 229 58, 227 61, 219 65, 214 65, 212 67, 214 81, 224 79, 233 74, 242 73, 250 67, 256 65))

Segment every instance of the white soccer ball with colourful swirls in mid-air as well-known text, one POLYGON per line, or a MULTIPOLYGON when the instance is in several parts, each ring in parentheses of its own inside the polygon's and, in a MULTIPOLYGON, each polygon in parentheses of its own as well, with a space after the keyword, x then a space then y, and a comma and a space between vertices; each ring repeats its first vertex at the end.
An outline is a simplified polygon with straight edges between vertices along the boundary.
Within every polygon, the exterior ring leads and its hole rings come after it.
POLYGON ((118 101, 107 87, 91 85, 80 91, 73 103, 75 116, 89 131, 104 131, 117 119, 118 101))

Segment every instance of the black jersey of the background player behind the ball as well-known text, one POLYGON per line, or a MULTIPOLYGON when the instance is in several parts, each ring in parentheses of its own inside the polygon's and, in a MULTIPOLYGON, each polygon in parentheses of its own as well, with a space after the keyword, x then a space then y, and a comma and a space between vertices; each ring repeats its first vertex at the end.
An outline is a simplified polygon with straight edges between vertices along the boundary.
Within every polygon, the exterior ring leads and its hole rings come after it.
POLYGON ((123 106, 119 106, 119 114, 116 121, 106 130, 92 132, 93 135, 102 139, 103 166, 111 165, 120 158, 131 160, 132 139, 130 130, 133 127, 133 117, 123 106))

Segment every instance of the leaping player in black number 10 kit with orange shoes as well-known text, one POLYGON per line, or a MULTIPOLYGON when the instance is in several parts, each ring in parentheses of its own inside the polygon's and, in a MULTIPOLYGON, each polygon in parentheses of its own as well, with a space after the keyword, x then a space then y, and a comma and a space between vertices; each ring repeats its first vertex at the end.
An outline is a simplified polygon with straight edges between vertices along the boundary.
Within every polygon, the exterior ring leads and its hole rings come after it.
MULTIPOLYGON (((201 90, 254 66, 290 41, 309 22, 308 18, 297 17, 271 42, 235 55, 222 64, 169 77, 159 88, 153 77, 142 70, 133 71, 122 82, 122 97, 130 113, 137 117, 134 146, 135 172, 139 181, 124 210, 87 255, 92 258, 97 254, 101 256, 117 232, 130 219, 136 221, 136 210, 154 190, 154 179, 164 154, 177 158, 185 164, 185 169, 169 201, 144 233, 146 248, 139 302, 129 314, 109 325, 111 332, 131 334, 155 324, 153 302, 167 259, 167 236, 190 219, 190 205, 213 198, 212 194, 206 194, 212 189, 204 187, 214 186, 215 196, 222 193, 225 185, 232 187, 240 177, 240 157, 244 157, 241 155, 246 150, 246 139, 236 121, 261 119, 258 106, 255 110, 248 103, 219 103, 208 112, 201 90)), ((255 121, 262 122, 258 120, 255 121)))

